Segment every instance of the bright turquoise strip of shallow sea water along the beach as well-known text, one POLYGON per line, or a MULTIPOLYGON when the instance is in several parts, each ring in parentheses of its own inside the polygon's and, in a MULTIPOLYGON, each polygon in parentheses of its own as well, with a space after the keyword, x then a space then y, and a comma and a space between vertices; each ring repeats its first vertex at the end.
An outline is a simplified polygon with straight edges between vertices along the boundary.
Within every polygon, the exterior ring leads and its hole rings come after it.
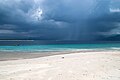
POLYGON ((120 50, 120 43, 0 46, 0 52, 47 52, 47 51, 89 50, 89 49, 117 49, 117 50, 120 50))

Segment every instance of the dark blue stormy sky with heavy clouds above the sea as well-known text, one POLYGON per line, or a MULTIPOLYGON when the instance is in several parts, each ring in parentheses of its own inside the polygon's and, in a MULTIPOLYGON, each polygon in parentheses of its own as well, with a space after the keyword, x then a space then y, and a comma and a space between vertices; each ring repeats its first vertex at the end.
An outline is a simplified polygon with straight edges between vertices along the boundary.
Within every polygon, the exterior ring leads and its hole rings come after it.
POLYGON ((0 0, 0 39, 120 41, 120 0, 0 0))

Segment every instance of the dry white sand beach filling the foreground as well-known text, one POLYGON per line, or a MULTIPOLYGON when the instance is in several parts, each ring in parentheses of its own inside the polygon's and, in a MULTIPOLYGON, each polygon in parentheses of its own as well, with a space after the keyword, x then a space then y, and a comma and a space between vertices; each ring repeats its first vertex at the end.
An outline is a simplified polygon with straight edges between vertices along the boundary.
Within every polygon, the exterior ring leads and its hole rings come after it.
POLYGON ((120 80, 120 51, 0 61, 0 80, 120 80))

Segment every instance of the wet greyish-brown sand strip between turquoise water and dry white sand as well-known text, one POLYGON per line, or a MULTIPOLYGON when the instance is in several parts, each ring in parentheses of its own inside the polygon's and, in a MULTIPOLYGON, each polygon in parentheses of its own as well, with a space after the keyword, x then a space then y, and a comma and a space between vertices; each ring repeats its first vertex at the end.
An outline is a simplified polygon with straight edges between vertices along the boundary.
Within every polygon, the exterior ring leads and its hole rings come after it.
POLYGON ((108 52, 108 51, 117 51, 119 50, 105 50, 105 49, 90 49, 90 50, 63 50, 55 52, 0 52, 0 61, 9 61, 9 60, 21 60, 21 59, 32 59, 40 58, 54 55, 63 55, 63 54, 73 54, 73 53, 87 53, 87 52, 108 52))

